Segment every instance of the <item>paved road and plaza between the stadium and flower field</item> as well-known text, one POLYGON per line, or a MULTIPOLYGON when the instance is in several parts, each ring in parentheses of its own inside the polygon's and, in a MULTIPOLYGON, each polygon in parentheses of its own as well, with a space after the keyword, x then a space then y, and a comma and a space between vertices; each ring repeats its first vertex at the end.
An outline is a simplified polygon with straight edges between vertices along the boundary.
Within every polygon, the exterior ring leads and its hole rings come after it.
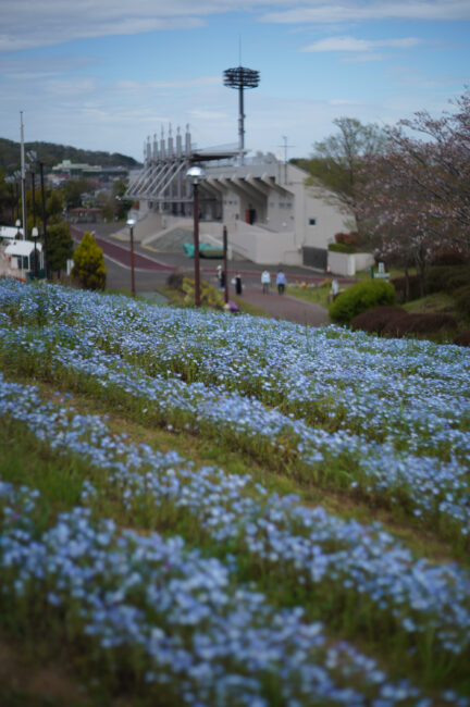
MULTIPOLYGON (((129 244, 113 238, 112 232, 115 225, 112 224, 88 224, 84 226, 72 226, 72 235, 79 241, 84 231, 95 231, 95 239, 104 253, 107 260, 107 283, 109 289, 131 289, 131 252, 129 244)), ((176 269, 194 272, 194 261, 183 253, 152 252, 143 248, 136 243, 134 247, 134 269, 136 292, 151 293, 166 284, 168 276, 176 269)), ((201 277, 212 284, 217 283, 217 266, 223 264, 221 260, 210 261, 200 259, 201 277)), ((275 268, 268 268, 272 274, 275 268)), ((261 271, 264 268, 250 261, 232 261, 228 263, 228 281, 238 272, 242 275, 244 289, 243 299, 264 310, 275 319, 284 319, 300 324, 321 326, 330 322, 327 311, 314 305, 305 302, 288 295, 279 295, 273 287, 271 294, 263 295, 261 292, 261 271)), ((306 282, 321 282, 325 278, 324 273, 313 272, 302 266, 286 266, 287 281, 299 280, 306 282)), ((230 285, 230 295, 235 289, 230 285)))

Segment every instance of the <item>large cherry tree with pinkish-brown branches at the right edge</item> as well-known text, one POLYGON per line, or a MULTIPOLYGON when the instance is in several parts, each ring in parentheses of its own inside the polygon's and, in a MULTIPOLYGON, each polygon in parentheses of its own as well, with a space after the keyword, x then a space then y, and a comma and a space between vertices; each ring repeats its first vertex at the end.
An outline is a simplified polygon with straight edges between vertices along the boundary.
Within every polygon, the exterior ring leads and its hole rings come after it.
POLYGON ((381 258, 405 269, 416 264, 422 294, 428 264, 438 250, 470 247, 469 92, 455 104, 457 111, 441 119, 419 112, 400 121, 387 131, 383 152, 363 165, 369 188, 358 203, 361 221, 381 258))

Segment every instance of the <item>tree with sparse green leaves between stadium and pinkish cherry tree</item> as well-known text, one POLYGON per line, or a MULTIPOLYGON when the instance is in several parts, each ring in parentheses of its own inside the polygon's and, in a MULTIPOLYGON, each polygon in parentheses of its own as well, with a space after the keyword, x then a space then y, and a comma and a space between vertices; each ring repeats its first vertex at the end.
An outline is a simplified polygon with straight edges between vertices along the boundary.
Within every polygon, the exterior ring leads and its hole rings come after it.
POLYGON ((307 163, 311 173, 307 184, 323 197, 326 188, 329 200, 351 214, 361 232, 358 202, 367 185, 362 163, 367 157, 383 151, 385 133, 374 124, 362 125, 354 117, 338 117, 333 123, 339 133, 314 144, 314 153, 307 163))

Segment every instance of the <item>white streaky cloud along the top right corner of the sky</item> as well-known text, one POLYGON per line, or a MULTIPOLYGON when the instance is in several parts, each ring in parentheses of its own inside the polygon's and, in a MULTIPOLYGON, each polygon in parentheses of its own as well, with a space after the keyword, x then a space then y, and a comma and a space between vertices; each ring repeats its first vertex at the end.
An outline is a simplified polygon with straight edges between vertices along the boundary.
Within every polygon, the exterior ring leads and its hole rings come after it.
MULTIPOLYGON (((290 3, 286 2, 286 5, 290 3)), ((358 2, 344 0, 342 3, 307 2, 294 9, 264 13, 262 22, 275 24, 323 24, 366 22, 378 20, 424 20, 458 21, 470 20, 468 0, 369 0, 358 2)))

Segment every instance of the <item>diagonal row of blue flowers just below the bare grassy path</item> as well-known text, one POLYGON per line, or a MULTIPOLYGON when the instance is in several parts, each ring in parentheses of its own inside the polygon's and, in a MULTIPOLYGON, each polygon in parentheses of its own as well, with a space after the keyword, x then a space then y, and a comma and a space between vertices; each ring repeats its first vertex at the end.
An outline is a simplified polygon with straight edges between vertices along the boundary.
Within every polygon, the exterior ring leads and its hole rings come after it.
MULTIPOLYGON (((259 484, 257 488, 262 489, 259 500, 240 497, 239 489, 248 483, 247 477, 231 476, 212 468, 195 473, 184 468, 177 455, 165 457, 148 446, 127 447, 119 441, 110 444, 109 431, 97 415, 79 415, 74 421, 73 434, 69 429, 69 434, 61 437, 58 432, 70 424, 66 415, 58 414, 52 404, 41 405, 34 388, 30 388, 32 404, 25 390, 21 385, 4 382, 0 410, 9 399, 15 400, 8 408, 10 414, 28 422, 29 408, 32 429, 40 419, 58 450, 61 445, 67 450, 67 445, 76 448, 79 443, 81 455, 102 467, 109 483, 114 485, 113 493, 119 492, 131 506, 148 504, 151 499, 157 507, 163 499, 171 499, 175 507, 194 514, 214 539, 243 537, 255 557, 294 568, 299 583, 314 586, 339 582, 346 591, 368 596, 379 611, 392 611, 405 632, 419 634, 431 622, 445 649, 456 653, 465 649, 470 625, 470 584, 457 567, 433 567, 424 560, 416 561, 380 525, 364 528, 357 522, 339 521, 322 509, 299 506, 295 496, 270 496, 259 484), (17 405, 18 399, 24 401, 23 407, 17 405), (106 445, 97 457, 101 437, 106 445)), ((88 484, 83 498, 92 503, 88 484)), ((97 544, 107 548, 113 532, 111 523, 108 533, 97 535, 97 544)), ((69 533, 66 524, 58 523, 54 534, 61 546, 67 546, 72 557, 79 557, 84 546, 77 538, 70 538, 69 533)), ((180 620, 189 624, 195 617, 199 620, 203 616, 203 609, 200 616, 187 615, 183 609, 184 606, 178 606, 180 620)))

